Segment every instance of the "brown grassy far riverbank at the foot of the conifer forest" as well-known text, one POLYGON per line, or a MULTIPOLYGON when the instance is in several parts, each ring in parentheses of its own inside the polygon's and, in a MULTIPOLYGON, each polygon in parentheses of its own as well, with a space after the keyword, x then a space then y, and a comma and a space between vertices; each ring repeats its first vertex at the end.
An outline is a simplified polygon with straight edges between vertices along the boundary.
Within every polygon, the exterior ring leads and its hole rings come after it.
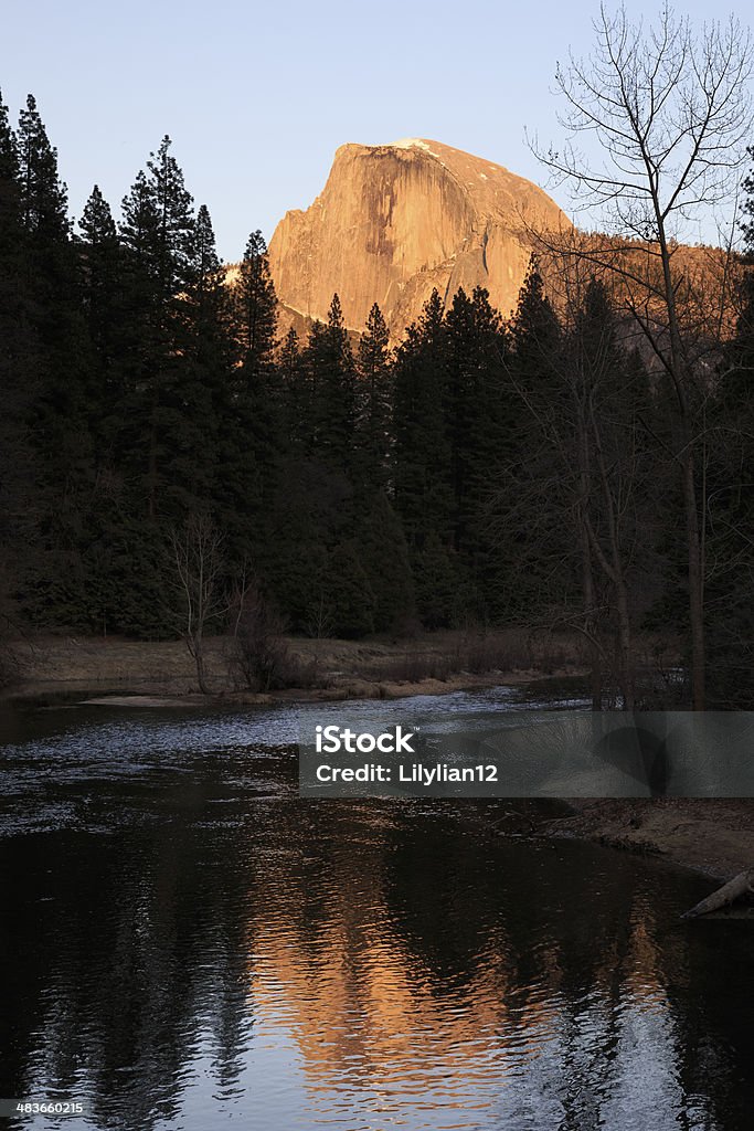
MULTIPOLYGON (((475 687, 574 679, 583 674, 580 642, 519 629, 494 633, 447 631, 406 640, 284 638, 285 687, 250 689, 237 670, 234 641, 205 644, 211 698, 262 703, 279 700, 392 699, 475 687)), ((14 646, 18 677, 6 694, 34 699, 76 692, 128 698, 135 706, 180 699, 202 705, 197 673, 181 640, 40 637, 14 646)))

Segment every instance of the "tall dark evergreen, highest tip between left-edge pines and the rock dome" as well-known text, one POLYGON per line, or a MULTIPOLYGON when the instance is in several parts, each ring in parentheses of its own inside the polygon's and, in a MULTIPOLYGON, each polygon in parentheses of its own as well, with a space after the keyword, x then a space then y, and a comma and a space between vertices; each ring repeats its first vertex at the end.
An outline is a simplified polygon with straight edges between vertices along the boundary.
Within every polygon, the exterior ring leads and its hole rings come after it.
POLYGON ((112 554, 116 571, 129 562, 132 570, 129 586, 115 588, 109 623, 147 636, 170 631, 162 601, 166 525, 180 526, 207 504, 198 475, 206 402, 194 397, 194 217, 171 145, 165 137, 137 174, 119 226, 121 399, 110 443, 122 518, 112 554))

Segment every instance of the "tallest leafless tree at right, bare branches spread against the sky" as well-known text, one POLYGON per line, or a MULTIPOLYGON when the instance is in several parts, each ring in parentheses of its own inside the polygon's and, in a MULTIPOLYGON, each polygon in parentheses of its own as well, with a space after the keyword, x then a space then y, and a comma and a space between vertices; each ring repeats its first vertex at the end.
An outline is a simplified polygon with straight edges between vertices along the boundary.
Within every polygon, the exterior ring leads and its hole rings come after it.
POLYGON ((571 55, 556 74, 567 131, 562 149, 537 156, 572 190, 575 209, 608 239, 573 242, 573 254, 619 278, 674 406, 674 459, 685 512, 692 687, 704 707, 704 508, 700 483, 708 371, 697 327, 690 334, 688 257, 679 241, 693 221, 735 196, 751 129, 749 36, 735 20, 696 38, 666 9, 657 24, 632 24, 600 8, 587 61, 571 55), (588 152, 578 147, 586 140, 588 152), (595 148, 596 143, 596 148, 595 148))

